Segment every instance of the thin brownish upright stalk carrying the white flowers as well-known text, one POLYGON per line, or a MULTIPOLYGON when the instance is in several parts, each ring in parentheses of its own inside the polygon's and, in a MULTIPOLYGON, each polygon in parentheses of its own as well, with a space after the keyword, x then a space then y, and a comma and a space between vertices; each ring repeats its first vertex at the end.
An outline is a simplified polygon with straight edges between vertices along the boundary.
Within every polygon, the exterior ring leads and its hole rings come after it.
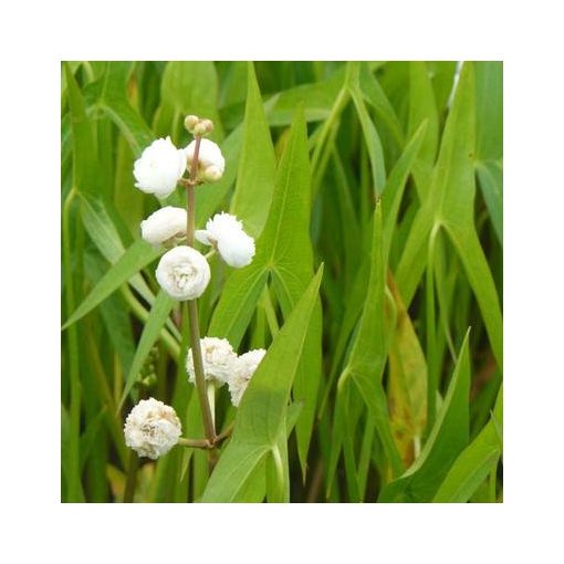
MULTIPOLYGON (((194 233, 196 229, 196 197, 194 187, 197 184, 196 176, 198 173, 198 155, 200 152, 200 136, 195 136, 196 145, 194 147, 194 157, 190 168, 190 179, 186 185, 186 242, 188 246, 194 247, 194 233)), ((201 417, 203 420, 203 431, 206 439, 213 445, 216 441, 216 429, 213 426, 213 416, 208 401, 208 394, 206 390, 206 378, 203 376, 203 362, 201 358, 200 348, 200 327, 198 325, 198 302, 196 300, 188 301, 188 318, 190 322, 190 340, 194 358, 194 372, 196 376, 196 387, 198 389, 198 397, 200 400, 201 417)))

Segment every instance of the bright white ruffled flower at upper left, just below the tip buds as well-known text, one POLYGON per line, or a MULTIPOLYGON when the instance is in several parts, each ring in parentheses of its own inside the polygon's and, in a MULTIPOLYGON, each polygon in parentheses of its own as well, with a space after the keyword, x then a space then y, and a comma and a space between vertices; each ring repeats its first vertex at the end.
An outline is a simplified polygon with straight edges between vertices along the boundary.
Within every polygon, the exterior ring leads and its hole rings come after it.
POLYGON ((177 149, 170 137, 156 139, 145 148, 135 161, 133 175, 135 186, 157 198, 166 198, 173 194, 178 180, 186 170, 186 154, 177 149))

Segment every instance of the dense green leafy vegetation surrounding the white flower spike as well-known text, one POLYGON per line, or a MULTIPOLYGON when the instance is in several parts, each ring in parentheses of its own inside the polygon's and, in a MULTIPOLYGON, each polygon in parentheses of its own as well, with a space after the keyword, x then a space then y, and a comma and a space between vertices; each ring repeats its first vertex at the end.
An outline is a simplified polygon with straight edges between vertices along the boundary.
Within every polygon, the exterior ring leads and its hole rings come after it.
MULTIPOLYGON (((155 137, 189 142, 186 114, 215 122, 227 158, 198 189, 198 224, 229 209, 258 246, 241 271, 212 263, 202 333, 240 351, 273 342, 270 376, 249 388, 211 479, 205 452, 175 448, 140 460, 135 501, 502 499, 502 65, 456 74, 455 62, 63 64, 63 501, 122 501, 123 420, 139 397, 202 436, 189 335, 139 239, 159 202, 132 175, 155 137)), ((217 408, 224 428, 227 391, 217 408)))

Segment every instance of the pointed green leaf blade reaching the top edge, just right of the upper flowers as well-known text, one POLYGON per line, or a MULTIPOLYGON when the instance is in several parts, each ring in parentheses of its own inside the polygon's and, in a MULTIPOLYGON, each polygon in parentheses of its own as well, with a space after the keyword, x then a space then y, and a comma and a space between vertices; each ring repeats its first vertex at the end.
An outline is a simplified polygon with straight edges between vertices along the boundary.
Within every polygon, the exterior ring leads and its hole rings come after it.
POLYGON ((249 63, 244 137, 231 213, 252 237, 262 231, 269 213, 276 161, 252 63, 249 63))

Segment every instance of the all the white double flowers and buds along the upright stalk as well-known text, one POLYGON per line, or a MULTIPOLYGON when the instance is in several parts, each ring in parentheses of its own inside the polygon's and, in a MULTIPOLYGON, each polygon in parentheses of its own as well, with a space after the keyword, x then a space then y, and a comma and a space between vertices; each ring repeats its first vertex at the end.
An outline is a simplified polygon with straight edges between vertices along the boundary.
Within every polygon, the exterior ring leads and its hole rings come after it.
MULTIPOLYGON (((185 126, 195 139, 177 148, 170 137, 153 142, 135 161, 135 186, 159 199, 169 197, 181 184, 191 190, 203 182, 219 180, 226 169, 221 149, 203 136, 211 133, 209 119, 189 115, 185 126), (188 177, 185 174, 188 173, 188 177)), ((190 200, 188 200, 190 201, 190 200)), ((161 255, 156 279, 160 288, 174 300, 196 300, 206 291, 211 278, 208 260, 188 243, 194 239, 212 247, 230 267, 243 268, 254 257, 254 239, 243 230, 234 216, 220 212, 206 222, 206 228, 195 230, 194 208, 165 206, 140 223, 142 237, 155 249, 168 249, 161 255)), ((231 400, 238 406, 265 351, 251 351, 238 356, 224 338, 205 337, 200 341, 205 379, 219 387, 229 386, 231 400)), ((189 380, 196 383, 194 354, 188 351, 189 380)), ((139 401, 128 415, 125 442, 139 456, 157 459, 178 443, 180 421, 175 410, 154 398, 139 401)), ((208 439, 213 440, 213 430, 208 439)), ((185 440, 185 439, 182 439, 185 440)))

